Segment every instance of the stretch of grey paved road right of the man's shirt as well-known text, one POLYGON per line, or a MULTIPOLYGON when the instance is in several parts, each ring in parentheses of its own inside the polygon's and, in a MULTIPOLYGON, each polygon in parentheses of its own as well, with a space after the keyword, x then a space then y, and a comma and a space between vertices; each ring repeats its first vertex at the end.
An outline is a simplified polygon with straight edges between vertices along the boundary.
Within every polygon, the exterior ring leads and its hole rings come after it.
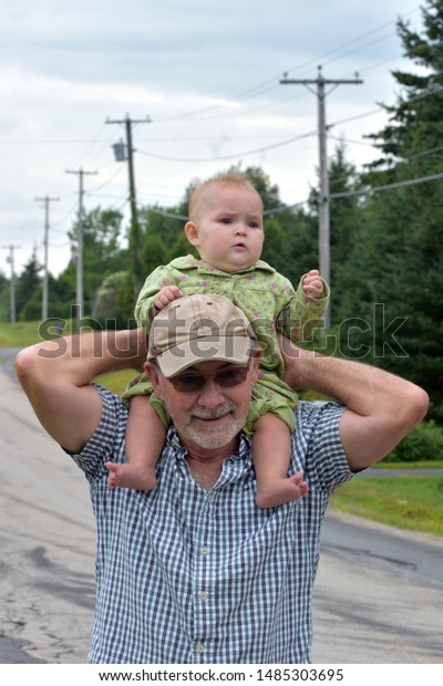
POLYGON ((313 662, 443 663, 443 541, 330 511, 313 662))

